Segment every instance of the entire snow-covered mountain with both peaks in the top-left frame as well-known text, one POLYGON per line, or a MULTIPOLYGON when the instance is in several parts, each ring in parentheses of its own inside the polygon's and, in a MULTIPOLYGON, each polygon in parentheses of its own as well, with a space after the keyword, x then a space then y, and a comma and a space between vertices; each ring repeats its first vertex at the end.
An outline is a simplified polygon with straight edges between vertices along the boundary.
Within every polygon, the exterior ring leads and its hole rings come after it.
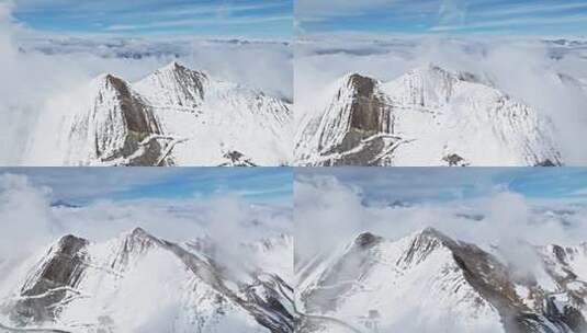
POLYGON ((27 165, 282 165, 291 105, 178 62, 129 83, 102 74, 54 97, 27 165))

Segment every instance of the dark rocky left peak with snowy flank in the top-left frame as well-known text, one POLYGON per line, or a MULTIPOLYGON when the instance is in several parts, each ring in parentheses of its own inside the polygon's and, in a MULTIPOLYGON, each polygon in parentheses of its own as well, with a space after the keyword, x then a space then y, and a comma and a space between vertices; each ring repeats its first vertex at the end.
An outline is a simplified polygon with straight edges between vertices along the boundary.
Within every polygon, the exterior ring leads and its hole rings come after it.
POLYGON ((70 118, 71 152, 105 164, 157 165, 163 147, 150 138, 162 130, 148 103, 111 74, 94 79, 91 99, 70 118))

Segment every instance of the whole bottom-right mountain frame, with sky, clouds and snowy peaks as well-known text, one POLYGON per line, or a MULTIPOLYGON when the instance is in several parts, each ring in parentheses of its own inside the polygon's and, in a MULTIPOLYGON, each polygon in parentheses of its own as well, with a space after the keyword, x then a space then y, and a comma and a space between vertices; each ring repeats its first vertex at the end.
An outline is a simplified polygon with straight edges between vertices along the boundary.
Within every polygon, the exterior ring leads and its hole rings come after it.
POLYGON ((586 332, 587 169, 297 168, 300 332, 586 332))

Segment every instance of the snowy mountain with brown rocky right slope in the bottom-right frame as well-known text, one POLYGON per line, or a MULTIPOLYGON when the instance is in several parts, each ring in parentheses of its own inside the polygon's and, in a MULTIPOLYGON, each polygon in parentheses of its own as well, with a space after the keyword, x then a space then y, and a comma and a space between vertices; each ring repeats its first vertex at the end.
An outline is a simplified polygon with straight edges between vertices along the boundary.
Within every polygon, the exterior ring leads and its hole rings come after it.
POLYGON ((531 249, 539 263, 523 271, 434 229, 361 233, 296 264, 302 331, 587 332, 587 244, 531 249))

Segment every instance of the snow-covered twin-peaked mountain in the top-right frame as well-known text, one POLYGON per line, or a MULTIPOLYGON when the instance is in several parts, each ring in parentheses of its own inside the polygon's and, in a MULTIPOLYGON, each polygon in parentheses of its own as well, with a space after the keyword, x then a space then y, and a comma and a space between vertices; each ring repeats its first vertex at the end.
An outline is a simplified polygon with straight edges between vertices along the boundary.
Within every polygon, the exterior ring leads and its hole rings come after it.
POLYGON ((301 165, 560 165, 549 118, 490 80, 429 65, 381 82, 347 74, 302 111, 301 165))

